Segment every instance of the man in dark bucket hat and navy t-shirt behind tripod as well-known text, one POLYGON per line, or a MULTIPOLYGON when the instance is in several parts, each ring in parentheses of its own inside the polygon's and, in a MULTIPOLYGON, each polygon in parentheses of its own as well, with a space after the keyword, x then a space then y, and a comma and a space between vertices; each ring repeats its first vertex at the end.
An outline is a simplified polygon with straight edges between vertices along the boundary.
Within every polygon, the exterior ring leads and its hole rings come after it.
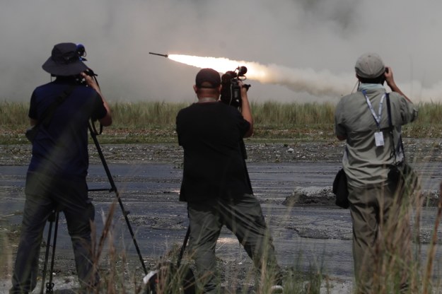
POLYGON ((82 45, 54 46, 42 68, 55 80, 38 86, 30 98, 29 118, 37 126, 25 183, 21 237, 9 293, 30 293, 36 286, 40 245, 53 211, 62 211, 71 236, 76 271, 86 293, 98 283, 91 255, 95 209, 88 198, 88 121, 112 124, 109 105, 93 71, 83 63, 82 45))

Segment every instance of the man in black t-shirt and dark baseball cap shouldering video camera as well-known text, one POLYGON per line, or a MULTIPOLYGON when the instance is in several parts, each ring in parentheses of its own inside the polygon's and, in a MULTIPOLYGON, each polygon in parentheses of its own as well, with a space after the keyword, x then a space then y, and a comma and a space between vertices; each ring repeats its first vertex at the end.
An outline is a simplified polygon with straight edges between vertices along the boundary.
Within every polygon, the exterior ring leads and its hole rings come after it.
POLYGON ((176 119, 178 143, 184 149, 180 201, 187 202, 190 256, 202 293, 219 293, 215 248, 223 225, 238 237, 262 275, 273 279, 275 285, 263 293, 282 290, 272 237, 240 148, 243 138, 252 135, 253 119, 247 88, 238 83, 241 112, 219 101, 219 72, 200 70, 193 86, 198 102, 180 110, 176 119))

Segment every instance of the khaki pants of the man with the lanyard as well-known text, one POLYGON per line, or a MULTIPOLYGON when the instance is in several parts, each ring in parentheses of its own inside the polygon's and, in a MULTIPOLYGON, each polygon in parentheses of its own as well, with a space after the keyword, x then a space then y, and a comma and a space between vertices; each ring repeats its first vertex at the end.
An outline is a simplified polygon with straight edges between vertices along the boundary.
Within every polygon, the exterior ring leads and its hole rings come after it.
POLYGON ((386 185, 349 187, 349 201, 357 293, 380 293, 372 285, 382 285, 392 271, 400 271, 400 284, 405 285, 412 258, 407 208, 386 185))

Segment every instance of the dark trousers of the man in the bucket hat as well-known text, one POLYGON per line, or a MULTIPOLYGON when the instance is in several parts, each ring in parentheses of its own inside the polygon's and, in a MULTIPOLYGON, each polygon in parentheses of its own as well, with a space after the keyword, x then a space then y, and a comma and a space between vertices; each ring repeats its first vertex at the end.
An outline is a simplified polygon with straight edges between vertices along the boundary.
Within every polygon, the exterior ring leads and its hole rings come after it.
POLYGON ((95 209, 88 199, 86 179, 66 180, 29 172, 20 243, 10 293, 29 293, 37 284, 43 230, 52 211, 63 211, 71 236, 78 280, 91 281, 91 221, 95 209))

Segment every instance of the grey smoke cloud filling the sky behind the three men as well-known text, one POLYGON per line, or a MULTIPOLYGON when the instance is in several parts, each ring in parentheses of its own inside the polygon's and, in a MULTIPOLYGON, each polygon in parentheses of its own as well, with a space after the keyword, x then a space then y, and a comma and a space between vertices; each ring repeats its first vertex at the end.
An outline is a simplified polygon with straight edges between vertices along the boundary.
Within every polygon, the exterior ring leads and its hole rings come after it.
MULTIPOLYGON (((224 57, 264 66, 251 100, 337 101, 354 63, 377 52, 414 101, 442 100, 437 0, 3 1, 2 100, 26 101, 50 81, 41 65, 59 42, 86 47, 110 101, 192 101, 198 69, 149 55, 224 57)), ((244 64, 238 64, 244 65, 244 64)), ((233 68, 234 69, 234 68, 233 68)), ((231 70, 233 70, 231 69, 231 70)))

